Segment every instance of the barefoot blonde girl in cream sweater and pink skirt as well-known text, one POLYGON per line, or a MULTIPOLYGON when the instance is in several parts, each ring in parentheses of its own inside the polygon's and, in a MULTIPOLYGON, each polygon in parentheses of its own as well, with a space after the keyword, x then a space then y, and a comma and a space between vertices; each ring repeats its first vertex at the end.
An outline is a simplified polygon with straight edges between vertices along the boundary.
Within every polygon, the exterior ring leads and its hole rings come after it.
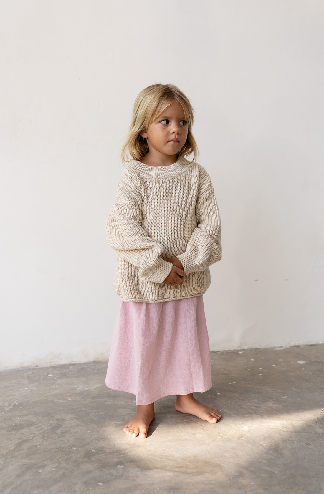
POLYGON ((137 413, 124 427, 132 437, 147 436, 154 401, 167 395, 177 395, 179 412, 221 418, 193 397, 212 386, 202 295, 222 246, 211 179, 194 161, 192 123, 191 104, 173 84, 139 93, 122 150, 128 165, 106 221, 121 298, 105 382, 136 395, 137 413))

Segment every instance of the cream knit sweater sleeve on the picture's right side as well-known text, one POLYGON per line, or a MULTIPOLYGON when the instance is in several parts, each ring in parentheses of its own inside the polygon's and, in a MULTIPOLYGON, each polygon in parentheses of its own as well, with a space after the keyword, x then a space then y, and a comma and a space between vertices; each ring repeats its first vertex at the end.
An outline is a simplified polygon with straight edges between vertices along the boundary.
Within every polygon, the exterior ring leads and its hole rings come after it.
POLYGON ((193 230, 184 253, 177 255, 185 274, 204 271, 222 258, 221 219, 209 174, 201 166, 195 206, 197 227, 193 230))

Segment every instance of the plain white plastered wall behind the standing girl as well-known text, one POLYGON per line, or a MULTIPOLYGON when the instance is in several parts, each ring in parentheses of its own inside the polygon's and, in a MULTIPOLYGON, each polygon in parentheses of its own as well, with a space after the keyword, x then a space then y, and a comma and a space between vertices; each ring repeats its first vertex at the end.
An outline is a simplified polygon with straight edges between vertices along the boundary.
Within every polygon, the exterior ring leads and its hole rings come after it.
POLYGON ((105 219, 139 91, 196 110, 223 259, 211 348, 323 341, 324 5, 0 5, 1 366, 108 357, 119 302, 105 219))

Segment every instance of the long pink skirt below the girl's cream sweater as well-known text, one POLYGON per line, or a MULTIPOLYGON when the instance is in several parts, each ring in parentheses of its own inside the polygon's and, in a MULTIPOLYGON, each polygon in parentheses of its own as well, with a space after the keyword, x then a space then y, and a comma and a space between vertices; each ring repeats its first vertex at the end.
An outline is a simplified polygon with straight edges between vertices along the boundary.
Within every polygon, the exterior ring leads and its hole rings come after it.
POLYGON ((210 389, 202 295, 153 303, 121 297, 105 382, 136 395, 136 405, 210 389))

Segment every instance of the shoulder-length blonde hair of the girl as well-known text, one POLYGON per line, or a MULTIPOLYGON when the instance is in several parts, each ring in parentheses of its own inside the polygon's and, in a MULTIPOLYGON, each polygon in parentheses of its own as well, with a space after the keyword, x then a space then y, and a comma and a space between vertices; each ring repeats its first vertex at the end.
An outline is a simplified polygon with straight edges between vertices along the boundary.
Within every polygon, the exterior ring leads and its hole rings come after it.
MULTIPOLYGON (((128 136, 121 151, 124 163, 130 160, 140 161, 148 153, 147 140, 140 133, 147 130, 149 125, 174 101, 180 103, 188 123, 188 135, 185 145, 177 154, 177 160, 193 154, 193 160, 198 156, 196 141, 192 135, 193 108, 185 94, 174 84, 152 84, 140 91, 133 106, 133 117, 128 136)), ((192 162, 191 162, 192 163, 192 162)))

